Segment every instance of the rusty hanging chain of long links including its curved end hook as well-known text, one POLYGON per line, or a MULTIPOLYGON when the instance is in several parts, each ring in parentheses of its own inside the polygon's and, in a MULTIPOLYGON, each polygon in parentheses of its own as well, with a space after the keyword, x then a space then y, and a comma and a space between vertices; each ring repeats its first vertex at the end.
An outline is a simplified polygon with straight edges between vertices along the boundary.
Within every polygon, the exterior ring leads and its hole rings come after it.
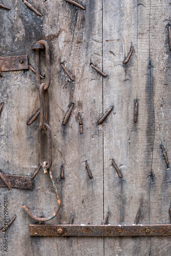
POLYGON ((39 90, 39 100, 40 100, 40 122, 38 127, 38 148, 39 148, 39 164, 44 170, 44 174, 47 174, 49 171, 49 176, 51 178, 51 182, 53 185, 53 188, 55 190, 56 198, 57 198, 57 207, 55 209, 55 212, 52 216, 47 218, 39 218, 32 214, 32 212, 27 208, 26 205, 23 206, 23 208, 26 210, 27 214, 36 221, 49 221, 53 219, 60 208, 60 200, 59 196, 57 194, 57 188, 55 185, 55 181, 52 176, 52 172, 50 170, 50 167, 52 165, 52 133, 51 128, 49 126, 49 95, 48 95, 48 89, 50 87, 50 51, 49 51, 49 45, 47 41, 40 40, 37 42, 37 44, 32 46, 32 49, 35 50, 35 61, 36 61, 36 86, 39 90), (39 56, 39 50, 44 49, 46 50, 46 67, 47 67, 47 82, 46 83, 40 83, 40 56, 39 56), (42 140, 42 131, 48 132, 48 161, 44 161, 44 143, 42 140))

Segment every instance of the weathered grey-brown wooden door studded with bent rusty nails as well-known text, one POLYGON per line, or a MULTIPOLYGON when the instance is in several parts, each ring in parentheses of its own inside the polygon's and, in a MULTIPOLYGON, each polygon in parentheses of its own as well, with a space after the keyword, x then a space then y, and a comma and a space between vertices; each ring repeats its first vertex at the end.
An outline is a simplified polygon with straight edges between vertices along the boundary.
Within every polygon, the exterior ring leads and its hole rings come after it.
MULTIPOLYGON (((61 207, 48 223, 109 224, 170 223, 171 152, 170 50, 166 1, 80 0, 83 10, 64 0, 29 0, 38 16, 22 0, 1 1, 1 56, 28 55, 40 39, 50 46, 50 125, 52 172, 61 207), (132 49, 129 62, 124 60, 132 49), (61 67, 65 65, 74 78, 61 67), (107 76, 96 72, 90 64, 107 76), (134 122, 135 104, 137 122, 134 122), (66 125, 63 118, 74 103, 66 125), (106 119, 98 120, 113 105, 106 119), (78 115, 82 121, 82 134, 78 115), (112 165, 118 166, 120 178, 112 165), (88 175, 86 164, 91 170, 88 175), (61 177, 61 166, 63 175, 61 177)), ((40 73, 46 76, 45 53, 40 73)), ((46 80, 46 77, 45 77, 46 80)), ((44 81, 44 80, 42 80, 44 81)), ((1 172, 32 176, 38 161, 39 110, 35 74, 29 70, 3 72, 0 79, 1 172)), ((30 237, 35 224, 27 205, 39 217, 54 212, 56 198, 42 169, 32 189, 0 188, 0 223, 5 201, 8 229, 1 232, 1 255, 171 255, 170 237, 30 237), (4 244, 8 239, 8 252, 4 244)))

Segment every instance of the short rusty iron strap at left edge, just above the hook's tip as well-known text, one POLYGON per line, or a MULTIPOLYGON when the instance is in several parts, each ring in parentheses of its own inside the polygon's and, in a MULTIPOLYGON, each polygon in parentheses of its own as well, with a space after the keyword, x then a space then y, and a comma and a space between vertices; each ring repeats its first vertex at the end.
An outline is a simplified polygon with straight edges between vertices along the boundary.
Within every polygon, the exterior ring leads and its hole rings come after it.
MULTIPOLYGON (((18 175, 5 175, 3 177, 8 182, 10 187, 14 188, 28 188, 32 189, 32 177, 30 176, 18 176, 18 175)), ((2 179, 0 179, 0 187, 7 187, 2 179)))

